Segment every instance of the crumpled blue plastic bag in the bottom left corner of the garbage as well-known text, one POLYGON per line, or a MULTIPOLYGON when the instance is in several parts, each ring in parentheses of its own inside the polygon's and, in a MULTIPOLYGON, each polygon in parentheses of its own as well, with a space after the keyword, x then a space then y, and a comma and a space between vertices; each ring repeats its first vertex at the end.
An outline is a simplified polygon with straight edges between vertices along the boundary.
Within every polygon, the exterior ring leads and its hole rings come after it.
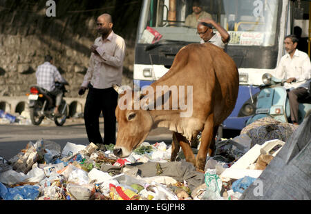
POLYGON ((35 200, 39 196, 39 186, 16 186, 7 188, 0 183, 0 197, 3 200, 35 200))

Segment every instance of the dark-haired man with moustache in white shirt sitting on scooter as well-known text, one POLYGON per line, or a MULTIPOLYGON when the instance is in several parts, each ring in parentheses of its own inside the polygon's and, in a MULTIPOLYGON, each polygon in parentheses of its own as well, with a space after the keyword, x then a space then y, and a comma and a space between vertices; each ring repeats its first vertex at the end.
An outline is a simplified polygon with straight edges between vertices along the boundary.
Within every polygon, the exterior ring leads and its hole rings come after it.
POLYGON ((305 52, 296 49, 298 39, 295 35, 285 37, 284 44, 288 53, 281 58, 275 75, 279 79, 286 79, 284 87, 288 90, 290 117, 293 124, 298 124, 298 100, 308 96, 310 86, 310 58, 305 52))

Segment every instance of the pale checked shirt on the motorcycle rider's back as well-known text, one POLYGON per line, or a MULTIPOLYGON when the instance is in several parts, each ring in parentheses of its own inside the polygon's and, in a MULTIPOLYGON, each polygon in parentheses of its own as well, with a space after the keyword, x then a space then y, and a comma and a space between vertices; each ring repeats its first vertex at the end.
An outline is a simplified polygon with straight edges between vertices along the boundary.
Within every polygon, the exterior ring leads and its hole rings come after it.
POLYGON ((60 75, 57 68, 48 61, 38 66, 36 77, 37 86, 48 91, 53 91, 55 89, 55 81, 66 82, 62 75, 60 75))

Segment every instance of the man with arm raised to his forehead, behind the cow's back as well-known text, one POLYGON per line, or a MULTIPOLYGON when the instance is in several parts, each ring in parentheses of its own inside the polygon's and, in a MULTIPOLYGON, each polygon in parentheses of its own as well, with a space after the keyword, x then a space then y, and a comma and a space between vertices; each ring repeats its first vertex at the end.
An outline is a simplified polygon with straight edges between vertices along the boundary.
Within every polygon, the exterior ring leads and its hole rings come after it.
POLYGON ((213 19, 205 18, 200 19, 198 23, 198 35, 202 39, 200 43, 213 43, 220 48, 227 48, 230 41, 230 35, 222 26, 218 25, 213 19), (219 35, 214 33, 213 26, 219 32, 219 35))

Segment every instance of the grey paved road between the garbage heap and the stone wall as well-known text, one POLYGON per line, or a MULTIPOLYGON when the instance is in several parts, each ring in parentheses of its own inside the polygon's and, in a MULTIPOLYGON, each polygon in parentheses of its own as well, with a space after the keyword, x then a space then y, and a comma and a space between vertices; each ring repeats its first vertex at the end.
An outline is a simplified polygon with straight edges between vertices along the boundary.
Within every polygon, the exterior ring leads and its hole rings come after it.
MULTIPOLYGON (((100 123, 100 130, 103 134, 104 123, 100 123)), ((57 142, 62 148, 67 142, 87 145, 88 139, 83 119, 68 119, 64 126, 55 126, 53 121, 45 121, 41 126, 6 124, 0 125, 0 157, 10 159, 17 155, 21 149, 31 141, 38 139, 57 142)), ((171 143, 171 132, 167 128, 157 128, 145 139, 145 142, 166 142, 171 143)))

